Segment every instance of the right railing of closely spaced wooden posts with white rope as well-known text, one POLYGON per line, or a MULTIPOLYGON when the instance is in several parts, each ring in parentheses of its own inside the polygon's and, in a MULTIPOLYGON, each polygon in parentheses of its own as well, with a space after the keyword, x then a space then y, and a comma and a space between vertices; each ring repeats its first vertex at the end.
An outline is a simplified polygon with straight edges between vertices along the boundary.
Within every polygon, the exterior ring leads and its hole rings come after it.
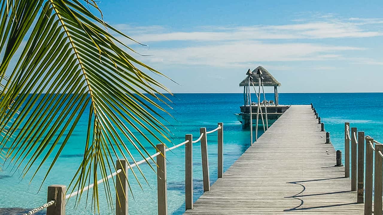
POLYGON ((358 132, 356 127, 351 127, 350 132, 350 123, 345 122, 344 147, 344 176, 350 177, 351 159, 351 191, 357 191, 357 203, 364 202, 365 215, 372 213, 382 215, 383 144, 370 136, 365 136, 364 132, 358 132), (365 194, 364 197, 363 194, 365 194), (373 210, 372 206, 374 207, 373 210))

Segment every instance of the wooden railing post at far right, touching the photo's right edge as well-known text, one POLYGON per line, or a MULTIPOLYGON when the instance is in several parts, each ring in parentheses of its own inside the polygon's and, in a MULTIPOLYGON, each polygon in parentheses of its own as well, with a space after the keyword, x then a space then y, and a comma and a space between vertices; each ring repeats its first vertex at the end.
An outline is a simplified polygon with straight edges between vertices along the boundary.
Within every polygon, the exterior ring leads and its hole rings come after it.
POLYGON ((383 144, 375 144, 375 173, 374 173, 374 215, 382 215, 382 192, 383 192, 383 159, 379 155, 383 152, 383 144))

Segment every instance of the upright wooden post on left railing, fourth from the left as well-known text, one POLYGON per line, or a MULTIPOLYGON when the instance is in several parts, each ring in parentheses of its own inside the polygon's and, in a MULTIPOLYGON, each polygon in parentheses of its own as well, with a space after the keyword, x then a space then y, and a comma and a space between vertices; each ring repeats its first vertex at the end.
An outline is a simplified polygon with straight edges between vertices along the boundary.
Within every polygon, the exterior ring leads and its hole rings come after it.
POLYGON ((185 135, 185 209, 193 209, 193 135, 185 135))

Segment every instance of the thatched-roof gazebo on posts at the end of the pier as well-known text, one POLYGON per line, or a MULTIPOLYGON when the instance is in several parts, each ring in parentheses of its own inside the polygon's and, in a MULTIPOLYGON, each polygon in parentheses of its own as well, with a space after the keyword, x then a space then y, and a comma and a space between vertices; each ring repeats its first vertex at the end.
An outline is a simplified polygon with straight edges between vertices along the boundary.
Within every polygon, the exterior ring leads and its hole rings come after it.
MULTIPOLYGON (((274 87, 274 99, 275 99, 275 105, 278 106, 278 86, 281 86, 281 83, 279 83, 264 67, 259 66, 255 68, 252 73, 251 73, 251 81, 250 81, 250 86, 259 86, 259 78, 257 73, 262 72, 262 77, 263 77, 263 84, 264 86, 273 86, 274 87)), ((249 77, 246 77, 241 83, 239 83, 239 86, 244 87, 244 94, 247 92, 250 92, 248 89, 249 88, 249 77)), ((245 98, 245 95, 244 95, 245 98)), ((247 98, 247 97, 246 97, 247 98)), ((245 105, 247 105, 247 99, 245 99, 245 105)))

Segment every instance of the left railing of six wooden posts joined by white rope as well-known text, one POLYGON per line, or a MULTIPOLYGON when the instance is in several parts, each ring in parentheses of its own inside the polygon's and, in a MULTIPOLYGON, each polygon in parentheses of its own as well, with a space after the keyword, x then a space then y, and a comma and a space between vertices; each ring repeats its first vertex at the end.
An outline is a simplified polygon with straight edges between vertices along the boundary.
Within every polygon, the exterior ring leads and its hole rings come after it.
MULTIPOLYGON (((116 176, 116 215, 128 215, 128 170, 141 163, 146 163, 152 158, 156 157, 157 163, 157 202, 158 202, 158 214, 167 215, 167 183, 166 183, 166 151, 178 148, 185 145, 185 210, 193 209, 193 143, 201 143, 201 161, 202 161, 202 177, 203 177, 203 191, 210 191, 210 178, 209 178, 209 163, 208 163, 208 142, 207 134, 213 132, 218 133, 218 178, 223 177, 223 123, 218 123, 218 127, 209 132, 206 128, 200 128, 200 136, 197 140, 193 141, 193 135, 185 135, 185 142, 175 145, 170 148, 166 148, 163 144, 157 144, 157 153, 129 165, 128 161, 117 160, 117 171, 109 176, 97 181, 97 184, 116 176), (126 174, 125 174, 126 173, 126 174)), ((64 185, 51 185, 47 189, 47 203, 34 208, 33 210, 23 215, 33 215, 47 208, 47 215, 65 215, 65 202, 72 196, 77 195, 87 189, 90 189, 94 184, 90 184, 84 187, 80 191, 72 192, 66 195, 66 186, 64 185)))

